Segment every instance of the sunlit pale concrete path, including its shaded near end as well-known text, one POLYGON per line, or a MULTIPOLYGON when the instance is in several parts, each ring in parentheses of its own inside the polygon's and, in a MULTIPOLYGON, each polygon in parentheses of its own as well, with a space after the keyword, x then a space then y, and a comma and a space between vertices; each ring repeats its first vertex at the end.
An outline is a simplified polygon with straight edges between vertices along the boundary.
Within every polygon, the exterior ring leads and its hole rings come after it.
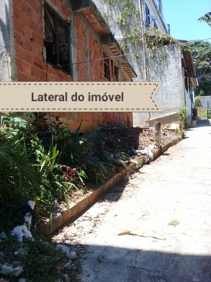
POLYGON ((211 126, 202 121, 65 227, 87 246, 81 281, 210 282, 210 162, 211 126), (180 224, 168 226, 173 219, 180 224), (124 230, 136 235, 118 236, 124 230))

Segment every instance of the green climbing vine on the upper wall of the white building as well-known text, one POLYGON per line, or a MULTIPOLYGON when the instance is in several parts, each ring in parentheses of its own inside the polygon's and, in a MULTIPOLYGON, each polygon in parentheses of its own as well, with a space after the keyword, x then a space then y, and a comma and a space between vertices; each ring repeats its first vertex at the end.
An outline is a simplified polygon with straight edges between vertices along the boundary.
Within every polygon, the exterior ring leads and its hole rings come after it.
MULTIPOLYGON (((149 27, 144 36, 141 30, 140 10, 137 8, 136 1, 134 0, 105 0, 108 3, 108 10, 103 11, 103 17, 109 24, 111 21, 115 22, 123 31, 123 40, 121 49, 124 53, 132 50, 132 52, 143 50, 143 44, 146 49, 152 49, 147 52, 147 59, 151 61, 159 60, 160 66, 166 60, 168 52, 167 48, 160 49, 159 52, 153 50, 164 45, 173 45, 179 43, 178 40, 170 36, 168 33, 163 33, 155 27, 149 27), (119 10, 120 14, 116 19, 113 19, 112 10, 119 10), (143 39, 144 38, 144 39, 143 39), (143 41, 144 40, 144 41, 143 41)), ((135 61, 142 72, 142 53, 134 54, 135 61)))

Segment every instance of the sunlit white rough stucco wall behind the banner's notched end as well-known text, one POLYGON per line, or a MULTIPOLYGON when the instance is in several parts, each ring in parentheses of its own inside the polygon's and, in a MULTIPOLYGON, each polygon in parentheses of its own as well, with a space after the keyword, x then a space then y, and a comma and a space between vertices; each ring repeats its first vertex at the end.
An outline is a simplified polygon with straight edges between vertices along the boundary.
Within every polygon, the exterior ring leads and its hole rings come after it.
MULTIPOLYGON (((181 50, 179 46, 172 46, 168 48, 168 52, 167 60, 163 61, 162 66, 159 66, 159 62, 149 62, 149 81, 163 82, 155 96, 163 112, 150 113, 151 118, 175 113, 183 108, 181 50)), ((134 113, 133 125, 146 126, 146 117, 147 113, 134 113)))

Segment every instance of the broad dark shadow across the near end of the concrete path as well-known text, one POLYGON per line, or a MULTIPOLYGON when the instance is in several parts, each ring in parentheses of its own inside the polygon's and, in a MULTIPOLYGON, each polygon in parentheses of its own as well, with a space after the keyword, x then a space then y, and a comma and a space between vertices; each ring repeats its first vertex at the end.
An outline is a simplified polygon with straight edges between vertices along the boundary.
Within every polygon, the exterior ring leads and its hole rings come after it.
MULTIPOLYGON (((127 237, 130 241, 132 236, 127 237)), ((150 238, 151 241, 152 239, 150 238)), ((165 243, 161 245, 165 249, 165 243)), ((81 271, 78 275, 81 282, 211 281, 211 256, 178 254, 176 251, 147 251, 146 246, 127 249, 106 244, 80 248, 83 250, 80 256, 81 271)))

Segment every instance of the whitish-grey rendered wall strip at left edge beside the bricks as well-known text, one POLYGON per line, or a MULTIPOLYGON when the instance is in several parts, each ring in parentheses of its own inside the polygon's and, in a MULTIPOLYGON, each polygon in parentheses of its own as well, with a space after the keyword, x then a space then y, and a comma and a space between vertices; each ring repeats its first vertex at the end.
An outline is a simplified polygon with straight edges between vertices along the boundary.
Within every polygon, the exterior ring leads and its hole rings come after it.
POLYGON ((12 0, 0 1, 0 81, 16 81, 12 0))

